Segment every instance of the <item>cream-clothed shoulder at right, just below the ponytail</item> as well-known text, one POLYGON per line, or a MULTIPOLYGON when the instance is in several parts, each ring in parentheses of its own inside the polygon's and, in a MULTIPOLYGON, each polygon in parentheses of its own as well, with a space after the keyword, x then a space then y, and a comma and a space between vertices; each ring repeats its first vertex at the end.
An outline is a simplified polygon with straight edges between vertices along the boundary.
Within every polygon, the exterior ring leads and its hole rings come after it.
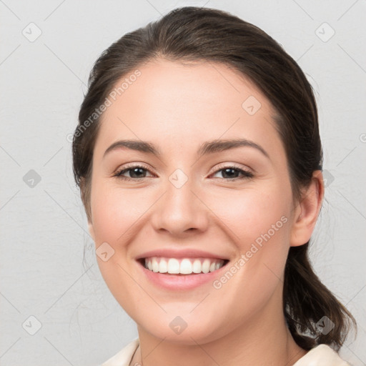
POLYGON ((318 345, 293 366, 350 366, 328 345, 318 345))

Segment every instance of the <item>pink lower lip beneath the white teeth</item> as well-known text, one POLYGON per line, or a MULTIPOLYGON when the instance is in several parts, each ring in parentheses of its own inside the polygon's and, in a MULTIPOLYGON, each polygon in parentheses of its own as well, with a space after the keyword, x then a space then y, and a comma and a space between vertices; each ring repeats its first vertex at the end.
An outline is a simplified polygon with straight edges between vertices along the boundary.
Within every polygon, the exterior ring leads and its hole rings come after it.
POLYGON ((222 270, 227 267, 224 265, 220 269, 216 269, 214 272, 208 273, 192 273, 192 274, 164 274, 159 272, 153 272, 146 269, 141 263, 138 263, 139 267, 147 276, 147 279, 167 290, 190 290, 194 287, 199 287, 207 282, 214 282, 220 276, 222 270))

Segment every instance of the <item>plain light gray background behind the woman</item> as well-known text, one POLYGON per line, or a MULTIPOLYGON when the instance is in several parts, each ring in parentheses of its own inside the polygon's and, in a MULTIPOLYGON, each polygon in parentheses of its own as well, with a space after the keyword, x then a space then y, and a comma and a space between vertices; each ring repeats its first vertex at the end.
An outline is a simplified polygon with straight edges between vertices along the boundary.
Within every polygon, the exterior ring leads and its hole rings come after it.
POLYGON ((99 273, 69 134, 97 56, 184 5, 261 27, 315 88, 327 189, 311 258, 358 321, 342 357, 366 365, 365 0, 0 1, 1 365, 98 365, 137 337, 99 273))

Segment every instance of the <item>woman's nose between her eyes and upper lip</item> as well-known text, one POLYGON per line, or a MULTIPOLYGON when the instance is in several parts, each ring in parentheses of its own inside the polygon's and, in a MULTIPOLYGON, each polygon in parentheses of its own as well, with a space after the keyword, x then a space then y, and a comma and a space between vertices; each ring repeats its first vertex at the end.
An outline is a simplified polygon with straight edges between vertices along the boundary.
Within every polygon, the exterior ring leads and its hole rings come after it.
POLYGON ((175 237, 204 232, 209 222, 209 209, 191 180, 188 179, 182 187, 176 187, 168 181, 165 188, 163 196, 154 204, 154 229, 169 232, 175 237))

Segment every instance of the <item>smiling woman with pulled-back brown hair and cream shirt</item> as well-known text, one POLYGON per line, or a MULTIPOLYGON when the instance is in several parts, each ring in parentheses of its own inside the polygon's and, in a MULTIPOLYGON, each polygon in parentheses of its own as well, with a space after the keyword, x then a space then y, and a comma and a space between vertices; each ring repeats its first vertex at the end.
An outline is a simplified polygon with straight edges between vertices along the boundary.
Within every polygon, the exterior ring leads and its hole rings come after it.
POLYGON ((103 365, 347 365, 350 312, 307 249, 324 184, 317 107, 252 24, 175 9, 99 57, 74 176, 139 338, 103 365))

